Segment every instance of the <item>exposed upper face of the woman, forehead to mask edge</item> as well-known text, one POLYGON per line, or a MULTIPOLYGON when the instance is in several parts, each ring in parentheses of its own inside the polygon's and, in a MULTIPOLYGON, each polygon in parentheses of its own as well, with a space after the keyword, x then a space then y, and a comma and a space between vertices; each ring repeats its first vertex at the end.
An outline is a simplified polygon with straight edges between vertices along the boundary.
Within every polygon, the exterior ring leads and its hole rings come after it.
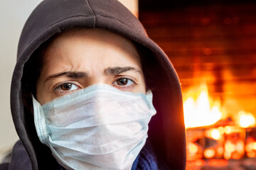
POLYGON ((43 55, 36 96, 41 105, 92 84, 145 93, 139 54, 120 35, 100 29, 77 29, 55 38, 43 55))

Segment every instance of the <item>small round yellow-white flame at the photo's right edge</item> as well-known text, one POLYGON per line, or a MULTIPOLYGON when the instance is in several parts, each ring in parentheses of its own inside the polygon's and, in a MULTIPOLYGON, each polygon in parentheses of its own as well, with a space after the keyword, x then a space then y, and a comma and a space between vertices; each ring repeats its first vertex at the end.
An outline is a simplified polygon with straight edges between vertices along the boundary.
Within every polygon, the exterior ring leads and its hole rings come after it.
POLYGON ((238 113, 239 125, 242 128, 249 128, 255 126, 255 117, 252 113, 245 113, 245 111, 240 111, 238 113))

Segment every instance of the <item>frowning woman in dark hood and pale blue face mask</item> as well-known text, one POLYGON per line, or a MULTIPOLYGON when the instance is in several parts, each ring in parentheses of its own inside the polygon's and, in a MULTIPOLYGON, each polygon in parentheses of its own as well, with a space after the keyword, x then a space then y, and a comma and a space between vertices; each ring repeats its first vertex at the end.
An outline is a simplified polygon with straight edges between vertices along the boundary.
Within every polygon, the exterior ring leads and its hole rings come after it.
POLYGON ((20 141, 2 169, 185 169, 178 77, 118 1, 38 5, 18 44, 11 113, 20 141))

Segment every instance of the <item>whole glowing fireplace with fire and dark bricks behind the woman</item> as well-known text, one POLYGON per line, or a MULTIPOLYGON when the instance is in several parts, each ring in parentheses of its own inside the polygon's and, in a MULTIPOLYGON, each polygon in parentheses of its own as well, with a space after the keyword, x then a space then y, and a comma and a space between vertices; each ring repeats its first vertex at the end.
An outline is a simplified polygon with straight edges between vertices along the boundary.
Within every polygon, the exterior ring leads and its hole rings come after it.
POLYGON ((139 9, 183 89, 187 169, 256 169, 256 3, 139 9))

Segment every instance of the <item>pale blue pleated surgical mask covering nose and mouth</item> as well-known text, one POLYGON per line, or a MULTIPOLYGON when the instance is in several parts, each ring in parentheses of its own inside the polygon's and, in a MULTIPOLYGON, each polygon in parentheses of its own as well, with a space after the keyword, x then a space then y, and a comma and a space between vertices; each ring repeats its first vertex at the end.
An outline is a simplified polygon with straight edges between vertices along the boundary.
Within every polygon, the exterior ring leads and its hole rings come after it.
POLYGON ((41 142, 66 169, 131 169, 156 113, 152 93, 95 84, 41 106, 33 98, 41 142))

